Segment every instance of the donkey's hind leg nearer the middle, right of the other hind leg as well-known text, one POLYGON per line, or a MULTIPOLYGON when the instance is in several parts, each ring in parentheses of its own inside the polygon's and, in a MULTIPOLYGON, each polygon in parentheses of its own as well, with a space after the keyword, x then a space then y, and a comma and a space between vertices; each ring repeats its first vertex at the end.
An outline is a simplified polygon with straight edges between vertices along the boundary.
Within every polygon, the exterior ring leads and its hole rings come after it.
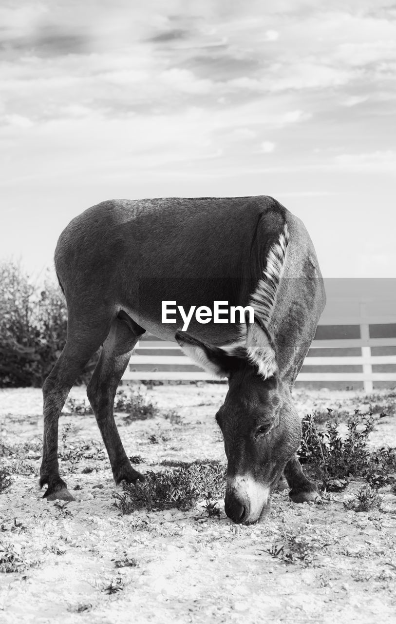
POLYGON ((87 386, 87 396, 94 410, 112 466, 113 478, 118 485, 144 481, 144 477, 130 465, 114 422, 114 397, 120 379, 127 368, 129 358, 138 338, 145 332, 135 321, 124 314, 116 318, 103 345, 99 362, 87 386))

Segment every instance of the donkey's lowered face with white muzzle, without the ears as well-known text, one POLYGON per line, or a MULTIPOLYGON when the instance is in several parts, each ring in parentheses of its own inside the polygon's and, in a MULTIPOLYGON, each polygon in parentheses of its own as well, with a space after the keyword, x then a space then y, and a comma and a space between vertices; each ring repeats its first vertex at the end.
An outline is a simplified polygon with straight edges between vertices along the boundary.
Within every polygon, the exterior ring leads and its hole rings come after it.
POLYGON ((241 364, 216 414, 228 459, 225 511, 234 522, 250 523, 266 514, 274 488, 294 456, 301 425, 289 389, 276 374, 263 379, 241 364))

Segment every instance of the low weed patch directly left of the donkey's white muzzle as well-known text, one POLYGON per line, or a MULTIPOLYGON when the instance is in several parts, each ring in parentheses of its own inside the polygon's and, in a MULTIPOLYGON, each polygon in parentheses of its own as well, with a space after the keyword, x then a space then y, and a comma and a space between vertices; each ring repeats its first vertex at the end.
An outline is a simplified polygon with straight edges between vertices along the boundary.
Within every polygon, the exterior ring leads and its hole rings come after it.
POLYGON ((176 507, 191 509, 200 498, 220 499, 225 494, 224 466, 190 464, 175 470, 145 474, 146 482, 124 485, 116 492, 115 505, 123 514, 137 509, 163 510, 176 507))

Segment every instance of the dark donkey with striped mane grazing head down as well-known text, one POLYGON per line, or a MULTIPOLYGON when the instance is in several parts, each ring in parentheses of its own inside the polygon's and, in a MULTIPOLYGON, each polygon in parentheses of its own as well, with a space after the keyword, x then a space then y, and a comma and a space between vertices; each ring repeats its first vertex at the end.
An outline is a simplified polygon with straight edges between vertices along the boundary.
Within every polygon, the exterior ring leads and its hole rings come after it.
POLYGON ((85 364, 103 345, 87 396, 118 485, 143 481, 128 460, 113 401, 145 331, 177 341, 218 378, 228 378, 216 414, 228 460, 225 511, 249 524, 268 513, 286 477, 294 502, 316 486, 296 456, 301 424, 291 391, 326 303, 312 241, 271 197, 112 200, 88 208, 59 237, 55 266, 67 301, 67 340, 43 386, 41 487, 73 500, 59 475, 58 419, 85 364), (162 301, 183 308, 253 306, 253 323, 162 323, 162 301))

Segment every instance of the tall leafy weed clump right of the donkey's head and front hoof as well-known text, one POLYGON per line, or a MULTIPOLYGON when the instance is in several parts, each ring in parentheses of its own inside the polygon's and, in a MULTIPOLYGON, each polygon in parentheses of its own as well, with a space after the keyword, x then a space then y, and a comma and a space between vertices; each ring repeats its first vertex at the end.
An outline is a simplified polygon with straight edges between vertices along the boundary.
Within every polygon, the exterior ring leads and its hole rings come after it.
POLYGON ((301 463, 307 464, 316 477, 322 477, 323 488, 328 490, 334 479, 343 480, 351 475, 363 476, 375 487, 394 484, 396 449, 382 447, 372 451, 368 446, 377 420, 370 413, 360 414, 355 410, 355 416, 347 424, 347 435, 342 439, 337 422, 328 422, 325 432, 317 431, 314 416, 307 414, 302 419, 298 452, 301 463))

